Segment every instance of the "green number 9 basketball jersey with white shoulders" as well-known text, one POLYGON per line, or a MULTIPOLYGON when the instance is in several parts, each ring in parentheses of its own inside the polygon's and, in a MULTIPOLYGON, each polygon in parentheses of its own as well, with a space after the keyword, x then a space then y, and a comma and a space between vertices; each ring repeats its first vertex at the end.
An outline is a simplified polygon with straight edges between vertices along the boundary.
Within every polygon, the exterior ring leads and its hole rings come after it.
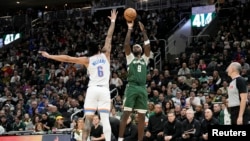
POLYGON ((134 55, 127 56, 128 65, 128 83, 135 85, 145 85, 147 76, 148 57, 143 55, 141 58, 135 58, 134 55))

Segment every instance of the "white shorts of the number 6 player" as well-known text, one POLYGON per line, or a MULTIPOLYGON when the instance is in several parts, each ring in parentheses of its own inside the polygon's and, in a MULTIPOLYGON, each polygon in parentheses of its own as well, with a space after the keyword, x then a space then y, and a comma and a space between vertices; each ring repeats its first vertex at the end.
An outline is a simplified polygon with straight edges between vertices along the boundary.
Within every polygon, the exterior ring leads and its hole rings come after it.
POLYGON ((93 115, 96 110, 109 113, 111 108, 110 91, 106 87, 91 86, 87 89, 84 114, 93 115))

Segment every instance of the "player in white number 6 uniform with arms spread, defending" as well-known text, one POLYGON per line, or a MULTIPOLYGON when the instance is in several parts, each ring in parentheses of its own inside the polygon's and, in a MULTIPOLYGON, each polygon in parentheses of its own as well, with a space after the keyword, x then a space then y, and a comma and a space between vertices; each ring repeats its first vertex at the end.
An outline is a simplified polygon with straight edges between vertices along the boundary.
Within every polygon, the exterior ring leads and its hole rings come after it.
POLYGON ((102 50, 95 43, 90 43, 90 57, 71 57, 68 55, 50 55, 45 51, 39 51, 42 56, 61 62, 76 63, 86 66, 89 72, 89 84, 84 102, 85 119, 85 137, 86 141, 91 129, 91 123, 96 110, 99 111, 101 122, 103 124, 103 133, 106 141, 111 140, 111 127, 109 122, 109 112, 111 107, 109 79, 110 79, 110 52, 112 35, 115 28, 117 11, 112 10, 110 27, 108 29, 105 45, 102 50), (101 53, 104 52, 104 53, 101 53))

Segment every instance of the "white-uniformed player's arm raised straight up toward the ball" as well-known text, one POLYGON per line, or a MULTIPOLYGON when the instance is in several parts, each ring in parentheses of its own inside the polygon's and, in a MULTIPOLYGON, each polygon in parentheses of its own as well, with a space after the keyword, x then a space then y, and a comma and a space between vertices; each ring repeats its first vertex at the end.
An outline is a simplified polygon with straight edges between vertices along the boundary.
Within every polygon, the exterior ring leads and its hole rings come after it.
POLYGON ((113 9, 113 10, 111 10, 111 15, 108 16, 111 23, 110 23, 108 33, 107 33, 107 36, 105 39, 105 45, 102 49, 106 53, 106 55, 108 55, 108 56, 110 56, 110 52, 111 52, 111 41, 112 41, 114 29, 115 29, 115 20, 116 20, 117 14, 118 14, 118 12, 116 11, 116 9, 113 9))

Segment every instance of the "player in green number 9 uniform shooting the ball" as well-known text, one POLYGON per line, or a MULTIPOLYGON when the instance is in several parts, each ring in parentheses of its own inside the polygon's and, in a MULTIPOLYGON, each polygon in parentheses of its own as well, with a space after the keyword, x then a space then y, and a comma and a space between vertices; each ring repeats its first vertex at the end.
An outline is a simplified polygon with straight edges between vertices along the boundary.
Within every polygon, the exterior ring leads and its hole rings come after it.
POLYGON ((146 75, 147 64, 150 56, 150 41, 144 29, 144 25, 139 22, 139 27, 143 34, 144 39, 144 54, 142 55, 142 47, 139 44, 135 44, 130 48, 130 37, 134 26, 134 21, 127 22, 128 31, 125 38, 124 48, 128 66, 128 84, 125 90, 125 102, 122 120, 120 123, 119 139, 123 140, 124 129, 126 122, 130 116, 132 110, 136 110, 138 113, 138 141, 143 140, 144 136, 144 123, 145 113, 147 112, 148 94, 146 90, 146 75))

